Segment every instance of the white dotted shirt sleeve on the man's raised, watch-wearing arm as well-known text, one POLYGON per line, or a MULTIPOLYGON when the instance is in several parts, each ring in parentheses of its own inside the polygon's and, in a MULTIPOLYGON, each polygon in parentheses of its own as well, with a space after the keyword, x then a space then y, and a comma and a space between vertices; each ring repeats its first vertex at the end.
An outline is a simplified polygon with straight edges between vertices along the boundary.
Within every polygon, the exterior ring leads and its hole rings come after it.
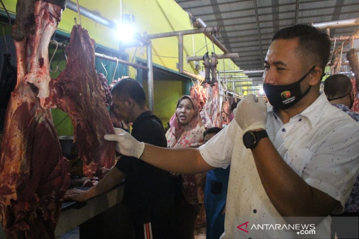
POLYGON ((303 169, 302 178, 312 187, 340 201, 332 213, 339 214, 359 172, 359 124, 332 130, 303 169), (349 135, 349 137, 348 137, 349 135))

